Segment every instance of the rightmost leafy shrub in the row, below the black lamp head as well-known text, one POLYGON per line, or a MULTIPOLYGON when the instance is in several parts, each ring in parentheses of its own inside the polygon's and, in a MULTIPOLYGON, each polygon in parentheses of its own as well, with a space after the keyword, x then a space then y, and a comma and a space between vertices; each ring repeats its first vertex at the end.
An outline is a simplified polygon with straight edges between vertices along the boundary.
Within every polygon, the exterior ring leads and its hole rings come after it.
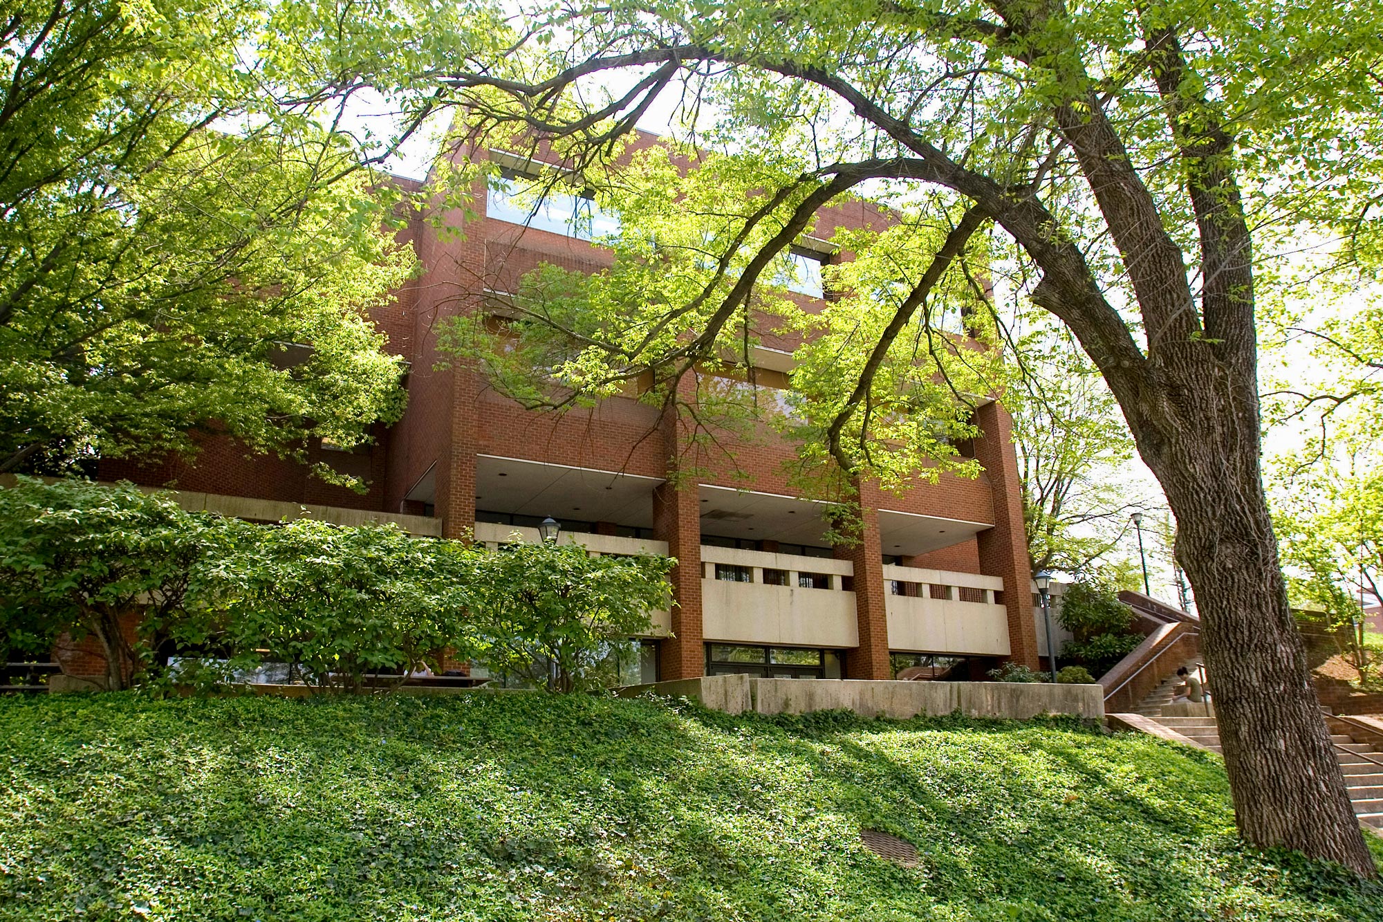
POLYGON ((481 555, 469 591, 480 660, 506 677, 571 692, 613 684, 613 660, 671 604, 668 557, 591 557, 579 544, 509 544, 481 555))

